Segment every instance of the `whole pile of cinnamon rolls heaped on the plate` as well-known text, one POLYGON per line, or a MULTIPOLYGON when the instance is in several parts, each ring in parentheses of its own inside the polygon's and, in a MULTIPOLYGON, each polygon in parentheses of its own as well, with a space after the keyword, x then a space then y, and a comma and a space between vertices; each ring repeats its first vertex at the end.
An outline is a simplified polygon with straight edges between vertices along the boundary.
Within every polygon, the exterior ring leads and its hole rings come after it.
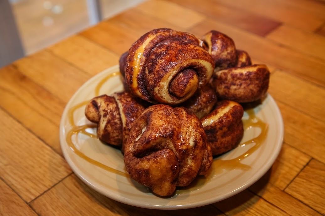
POLYGON ((98 138, 121 146, 127 172, 159 196, 207 175, 213 155, 243 136, 239 103, 266 94, 269 70, 218 31, 200 40, 160 28, 120 58, 124 92, 93 98, 87 119, 98 138))

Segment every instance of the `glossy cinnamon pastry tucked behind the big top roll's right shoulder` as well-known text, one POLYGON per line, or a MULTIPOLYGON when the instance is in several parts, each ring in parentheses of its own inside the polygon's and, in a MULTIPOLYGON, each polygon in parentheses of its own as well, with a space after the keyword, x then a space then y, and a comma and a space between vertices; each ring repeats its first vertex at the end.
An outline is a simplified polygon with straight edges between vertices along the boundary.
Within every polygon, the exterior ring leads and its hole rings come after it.
POLYGON ((235 65, 237 61, 236 47, 230 37, 219 31, 211 30, 203 36, 203 41, 207 51, 214 59, 214 71, 235 65))

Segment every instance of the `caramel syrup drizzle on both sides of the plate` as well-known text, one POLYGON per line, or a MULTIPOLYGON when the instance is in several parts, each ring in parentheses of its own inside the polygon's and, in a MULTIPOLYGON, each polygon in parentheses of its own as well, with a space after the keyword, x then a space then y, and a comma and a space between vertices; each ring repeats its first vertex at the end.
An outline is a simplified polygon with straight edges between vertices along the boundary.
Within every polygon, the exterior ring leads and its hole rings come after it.
MULTIPOLYGON (((98 96, 99 95, 99 91, 102 87, 102 85, 107 82, 107 80, 109 80, 110 78, 120 75, 120 72, 115 72, 112 74, 109 74, 108 76, 106 76, 105 78, 103 78, 98 85, 95 88, 95 95, 98 96)), ((88 156, 86 156, 84 153, 82 153, 81 151, 79 151, 75 145, 72 142, 72 136, 73 135, 78 135, 78 133, 82 133, 84 135, 87 135, 91 138, 97 138, 97 135, 89 133, 86 131, 86 129, 88 128, 97 128, 96 125, 92 125, 92 124, 86 124, 86 125, 82 125, 82 126, 76 126, 74 123, 74 119, 73 119, 73 114, 74 112, 85 106, 89 101, 83 101, 75 106, 73 106, 72 108, 70 108, 70 110, 68 111, 68 117, 69 117, 69 122, 72 125, 72 129, 70 131, 68 131, 67 133, 67 137, 66 137, 66 142, 68 143, 70 149, 76 153, 78 156, 80 156, 81 158, 83 158, 84 160, 88 161, 89 163, 96 165, 98 167, 101 167, 107 171, 110 171, 112 173, 121 175, 121 176, 128 176, 127 173, 116 170, 114 168, 111 168, 107 165, 104 165, 88 156)), ((203 184, 203 182, 206 182, 208 179, 211 179, 213 176, 215 176, 216 174, 222 172, 222 170, 227 169, 227 170, 232 170, 232 169, 240 169, 240 170, 251 170, 252 167, 249 165, 245 165, 240 163, 244 158, 248 157, 249 155, 251 155, 252 153, 254 153, 261 145, 261 143, 263 143, 266 139, 266 134, 268 131, 268 125, 263 122, 261 119, 259 119, 258 117, 256 117, 254 110, 253 109, 249 109, 249 110, 245 110, 245 112, 249 115, 248 119, 244 119, 243 121, 243 125, 244 125, 244 131, 248 131, 250 130, 252 127, 257 127, 261 129, 261 133, 251 139, 248 140, 246 142, 240 143, 239 147, 243 147, 246 145, 252 145, 254 144, 253 147, 251 147, 249 150, 247 150, 245 153, 241 154, 240 156, 231 159, 231 160, 221 160, 221 159, 215 159, 213 161, 212 164, 212 169, 211 172, 208 176, 208 178, 204 178, 204 177, 199 177, 197 181, 194 180, 194 184, 196 185, 196 187, 192 187, 193 184, 190 184, 192 189, 195 188, 199 188, 199 186, 201 184, 203 184)), ((99 139, 98 139, 99 140, 99 139)), ((184 189, 188 188, 188 187, 183 187, 184 189)))

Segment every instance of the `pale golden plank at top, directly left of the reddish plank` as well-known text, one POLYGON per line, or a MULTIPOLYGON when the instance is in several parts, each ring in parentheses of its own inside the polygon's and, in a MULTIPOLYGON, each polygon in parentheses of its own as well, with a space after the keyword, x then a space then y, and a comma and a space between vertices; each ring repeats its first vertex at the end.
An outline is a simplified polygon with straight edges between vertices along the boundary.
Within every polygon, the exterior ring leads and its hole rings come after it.
POLYGON ((136 8, 145 15, 166 20, 168 23, 181 28, 193 27, 205 18, 204 15, 194 10, 163 0, 147 1, 136 8))

